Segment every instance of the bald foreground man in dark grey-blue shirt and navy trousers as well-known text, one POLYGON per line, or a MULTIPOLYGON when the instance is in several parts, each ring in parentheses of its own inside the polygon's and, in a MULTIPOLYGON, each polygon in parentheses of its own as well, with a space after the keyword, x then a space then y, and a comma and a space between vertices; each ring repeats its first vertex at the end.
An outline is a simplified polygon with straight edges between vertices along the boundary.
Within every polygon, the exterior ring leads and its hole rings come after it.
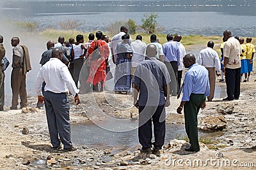
POLYGON ((170 105, 170 76, 163 62, 156 59, 156 45, 148 45, 146 59, 141 62, 134 73, 134 106, 139 108, 139 141, 141 152, 152 153, 152 120, 155 142, 153 153, 160 155, 165 137, 165 106, 170 105), (139 100, 138 92, 140 92, 139 100), (166 99, 164 98, 166 97, 166 99))

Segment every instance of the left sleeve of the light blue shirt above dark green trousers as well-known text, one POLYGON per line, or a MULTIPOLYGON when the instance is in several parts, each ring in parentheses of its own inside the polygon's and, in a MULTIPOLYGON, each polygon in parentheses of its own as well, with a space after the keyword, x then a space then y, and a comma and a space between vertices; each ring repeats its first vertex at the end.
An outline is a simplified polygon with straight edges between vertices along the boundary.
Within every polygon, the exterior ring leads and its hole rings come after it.
POLYGON ((187 72, 184 77, 183 96, 181 101, 189 101, 189 97, 191 95, 193 87, 193 74, 187 72))

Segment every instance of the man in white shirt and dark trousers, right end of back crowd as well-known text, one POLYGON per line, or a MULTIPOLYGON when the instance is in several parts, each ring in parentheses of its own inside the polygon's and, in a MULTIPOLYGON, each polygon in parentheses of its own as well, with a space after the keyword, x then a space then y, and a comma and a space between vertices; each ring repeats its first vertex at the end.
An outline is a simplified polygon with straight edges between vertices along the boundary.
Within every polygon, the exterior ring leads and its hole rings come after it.
POLYGON ((173 41, 179 46, 180 50, 180 65, 178 66, 178 92, 180 90, 180 83, 181 83, 181 78, 182 78, 182 71, 183 71, 183 58, 187 54, 185 46, 180 43, 180 40, 182 39, 181 35, 176 35, 173 38, 173 41))

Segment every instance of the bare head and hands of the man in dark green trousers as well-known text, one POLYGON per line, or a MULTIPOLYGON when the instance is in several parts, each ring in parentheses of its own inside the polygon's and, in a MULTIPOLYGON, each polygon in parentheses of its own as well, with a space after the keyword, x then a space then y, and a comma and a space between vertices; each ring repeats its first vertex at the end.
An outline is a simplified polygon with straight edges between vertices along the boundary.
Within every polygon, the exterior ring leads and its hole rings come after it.
MULTIPOLYGON (((183 64, 186 68, 192 66, 193 64, 196 63, 196 59, 195 56, 192 54, 187 54, 185 55, 184 59, 183 59, 183 64)), ((182 101, 180 103, 180 106, 177 108, 177 113, 181 114, 181 111, 183 110, 184 105, 187 103, 188 101, 182 101)), ((204 102, 204 104, 201 106, 201 109, 203 110, 206 106, 206 103, 204 102)))

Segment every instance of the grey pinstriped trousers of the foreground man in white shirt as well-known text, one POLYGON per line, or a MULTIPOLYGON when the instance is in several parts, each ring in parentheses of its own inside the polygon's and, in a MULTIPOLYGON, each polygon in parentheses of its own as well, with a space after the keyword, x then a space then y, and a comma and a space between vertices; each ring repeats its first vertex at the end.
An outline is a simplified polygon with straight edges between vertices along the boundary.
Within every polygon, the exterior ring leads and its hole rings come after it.
POLYGON ((61 141, 64 148, 71 148, 70 105, 67 94, 45 91, 44 103, 52 147, 59 146, 61 141))

